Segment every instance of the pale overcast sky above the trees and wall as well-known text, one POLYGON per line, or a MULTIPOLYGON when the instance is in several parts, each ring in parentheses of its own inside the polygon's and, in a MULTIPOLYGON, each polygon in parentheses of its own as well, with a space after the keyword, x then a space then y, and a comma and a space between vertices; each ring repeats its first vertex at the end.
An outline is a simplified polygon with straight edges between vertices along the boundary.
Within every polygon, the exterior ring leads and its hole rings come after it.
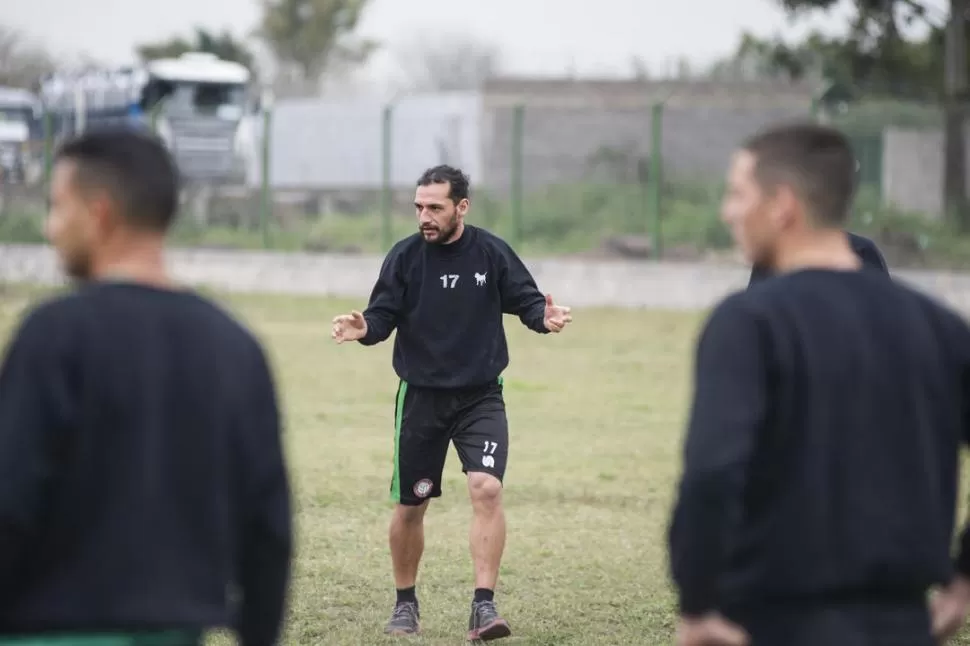
MULTIPOLYGON (((947 0, 932 0, 942 7, 947 0)), ((652 73, 685 56, 708 62, 731 51, 743 30, 796 37, 812 27, 841 30, 848 9, 789 24, 773 0, 371 0, 361 33, 387 45, 367 75, 380 83, 395 45, 470 34, 501 48, 515 74, 627 75, 640 57, 652 73), (555 8, 553 10, 553 7, 555 8), (595 7, 595 10, 591 10, 595 7)), ((135 44, 194 25, 250 33, 258 0, 0 0, 0 22, 61 55, 110 63, 133 59, 135 44)))

